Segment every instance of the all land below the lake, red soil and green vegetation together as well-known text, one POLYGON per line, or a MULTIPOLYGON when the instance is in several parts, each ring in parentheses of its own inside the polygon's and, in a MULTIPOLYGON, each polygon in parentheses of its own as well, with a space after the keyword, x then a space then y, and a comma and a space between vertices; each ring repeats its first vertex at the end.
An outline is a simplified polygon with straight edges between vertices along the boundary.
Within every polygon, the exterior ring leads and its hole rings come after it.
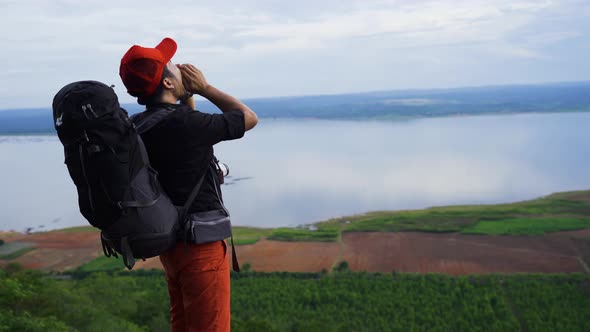
MULTIPOLYGON (((232 330, 587 331, 587 193, 236 227, 232 330)), ((127 272, 90 227, 1 239, 0 331, 169 330, 157 258, 127 272)))

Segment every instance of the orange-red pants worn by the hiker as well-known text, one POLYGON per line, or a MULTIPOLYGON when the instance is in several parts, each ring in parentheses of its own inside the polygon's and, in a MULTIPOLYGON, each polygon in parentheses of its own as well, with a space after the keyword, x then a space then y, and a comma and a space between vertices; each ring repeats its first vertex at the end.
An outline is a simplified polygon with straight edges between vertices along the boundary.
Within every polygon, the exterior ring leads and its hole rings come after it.
POLYGON ((229 331, 227 243, 179 243, 162 255, 170 295, 172 332, 229 331))

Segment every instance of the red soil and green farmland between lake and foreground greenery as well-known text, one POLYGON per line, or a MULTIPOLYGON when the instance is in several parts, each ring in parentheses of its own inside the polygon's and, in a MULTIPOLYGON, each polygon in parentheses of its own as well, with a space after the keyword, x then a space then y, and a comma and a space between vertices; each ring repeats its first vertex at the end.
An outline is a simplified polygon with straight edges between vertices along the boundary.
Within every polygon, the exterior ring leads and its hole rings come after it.
MULTIPOLYGON (((367 272, 590 272, 590 191, 511 204, 371 212, 299 228, 234 227, 234 234, 240 263, 261 272, 330 271, 343 261, 367 272)), ((98 259, 87 268, 122 267, 100 257, 99 232, 91 227, 3 233, 2 239, 0 266, 67 271, 98 259)), ((136 268, 161 265, 156 258, 138 261, 136 268)))

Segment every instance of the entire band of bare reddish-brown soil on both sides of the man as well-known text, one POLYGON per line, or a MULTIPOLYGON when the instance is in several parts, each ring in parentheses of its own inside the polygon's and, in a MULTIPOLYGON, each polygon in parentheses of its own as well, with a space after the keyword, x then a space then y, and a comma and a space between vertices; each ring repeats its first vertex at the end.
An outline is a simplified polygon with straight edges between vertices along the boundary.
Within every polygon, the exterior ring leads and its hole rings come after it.
MULTIPOLYGON (((20 234, 5 240, 33 243, 36 250, 10 262, 45 271, 75 268, 102 255, 96 232, 20 234)), ((236 251, 242 266, 263 272, 330 271, 342 260, 353 271, 369 272, 590 272, 590 230, 545 236, 344 233, 341 243, 261 240, 236 251)), ((161 264, 153 258, 137 262, 137 268, 161 269, 161 264)))

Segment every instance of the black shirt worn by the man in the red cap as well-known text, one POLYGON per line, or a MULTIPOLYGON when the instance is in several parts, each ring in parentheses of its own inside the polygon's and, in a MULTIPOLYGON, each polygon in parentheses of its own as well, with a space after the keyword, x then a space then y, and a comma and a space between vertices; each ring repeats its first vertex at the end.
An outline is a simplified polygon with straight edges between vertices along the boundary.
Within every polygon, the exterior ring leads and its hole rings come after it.
MULTIPOLYGON (((182 206, 204 172, 209 172, 213 145, 244 136, 244 114, 230 111, 209 114, 186 105, 160 104, 173 110, 141 135, 158 179, 174 205, 182 206)), ((150 112, 150 111, 146 111, 150 112)), ((146 113, 144 112, 144 113, 146 113)), ((141 114, 139 115, 141 117, 141 114)), ((189 213, 220 209, 213 176, 205 180, 189 213)), ((218 187, 221 192, 221 189, 218 187)))

